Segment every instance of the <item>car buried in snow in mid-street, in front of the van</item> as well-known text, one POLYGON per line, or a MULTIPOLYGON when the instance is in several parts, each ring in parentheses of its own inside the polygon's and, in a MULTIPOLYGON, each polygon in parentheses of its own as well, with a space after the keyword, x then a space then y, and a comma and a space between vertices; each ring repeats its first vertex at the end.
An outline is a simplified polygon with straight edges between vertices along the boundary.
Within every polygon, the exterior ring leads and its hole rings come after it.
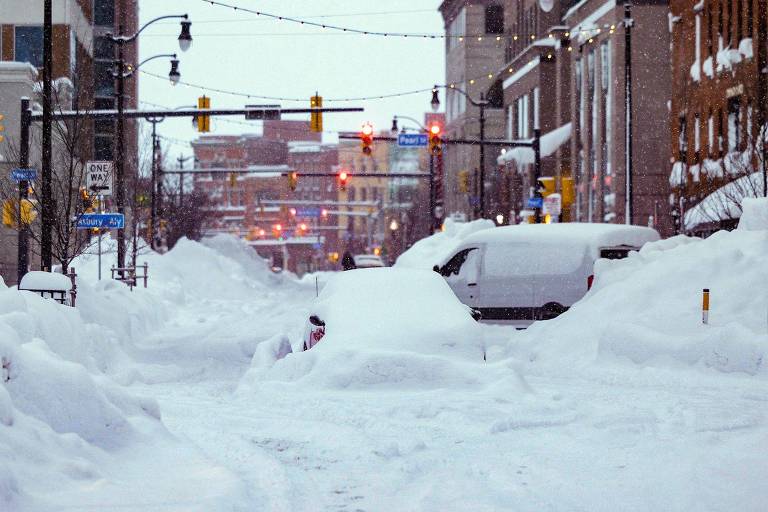
POLYGON ((482 360, 478 329, 473 311, 434 272, 351 270, 330 279, 312 305, 303 345, 304 350, 330 345, 342 350, 462 353, 482 360))

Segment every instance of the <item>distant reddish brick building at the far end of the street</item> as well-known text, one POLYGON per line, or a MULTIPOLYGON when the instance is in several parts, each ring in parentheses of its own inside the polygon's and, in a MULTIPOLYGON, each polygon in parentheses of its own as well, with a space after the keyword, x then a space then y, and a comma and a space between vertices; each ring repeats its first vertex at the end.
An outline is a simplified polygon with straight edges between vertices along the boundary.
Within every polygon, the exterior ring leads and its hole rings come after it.
POLYGON ((332 177, 308 174, 336 168, 336 145, 323 144, 306 122, 265 121, 261 135, 205 135, 192 148, 200 169, 194 187, 210 201, 206 235, 245 238, 276 266, 299 274, 330 265, 337 235, 326 229, 328 215, 316 213, 326 209, 321 203, 336 200, 337 188, 332 177), (295 191, 288 182, 293 171, 298 173, 295 191))

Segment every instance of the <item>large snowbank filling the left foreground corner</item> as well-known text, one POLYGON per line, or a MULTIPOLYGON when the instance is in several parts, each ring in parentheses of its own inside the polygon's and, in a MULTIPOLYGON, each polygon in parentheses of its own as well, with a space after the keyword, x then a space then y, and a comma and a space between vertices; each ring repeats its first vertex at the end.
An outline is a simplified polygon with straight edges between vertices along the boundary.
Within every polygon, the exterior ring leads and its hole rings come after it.
MULTIPOLYGON (((105 456, 138 442, 147 428, 163 430, 154 400, 127 393, 102 373, 124 361, 126 339, 108 325, 84 320, 99 308, 90 287, 79 295, 84 310, 19 293, 0 280, 3 510, 26 508, 38 501, 32 496, 52 487, 102 479, 105 456)), ((130 314, 133 307, 113 300, 109 309, 130 314)))

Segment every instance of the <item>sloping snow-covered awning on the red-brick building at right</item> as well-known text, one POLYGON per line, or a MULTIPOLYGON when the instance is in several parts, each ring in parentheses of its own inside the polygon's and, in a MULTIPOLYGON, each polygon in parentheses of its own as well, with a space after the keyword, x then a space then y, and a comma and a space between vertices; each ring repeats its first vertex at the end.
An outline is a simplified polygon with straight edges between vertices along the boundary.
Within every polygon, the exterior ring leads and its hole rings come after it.
POLYGON ((701 224, 741 217, 741 203, 746 197, 756 196, 763 190, 763 175, 759 172, 742 176, 702 199, 696 206, 685 212, 686 230, 701 224))

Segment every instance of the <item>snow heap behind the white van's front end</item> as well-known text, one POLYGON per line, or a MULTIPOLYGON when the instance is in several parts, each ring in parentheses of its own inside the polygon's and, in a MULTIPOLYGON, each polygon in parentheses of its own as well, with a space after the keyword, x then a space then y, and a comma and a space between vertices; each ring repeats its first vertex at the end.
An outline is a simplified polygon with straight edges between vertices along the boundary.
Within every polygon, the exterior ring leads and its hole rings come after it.
POLYGON ((413 247, 405 251, 397 258, 396 267, 432 269, 434 265, 441 265, 452 256, 453 251, 461 245, 469 235, 490 229, 496 225, 488 219, 479 219, 472 222, 454 222, 446 219, 444 231, 419 240, 413 247))

